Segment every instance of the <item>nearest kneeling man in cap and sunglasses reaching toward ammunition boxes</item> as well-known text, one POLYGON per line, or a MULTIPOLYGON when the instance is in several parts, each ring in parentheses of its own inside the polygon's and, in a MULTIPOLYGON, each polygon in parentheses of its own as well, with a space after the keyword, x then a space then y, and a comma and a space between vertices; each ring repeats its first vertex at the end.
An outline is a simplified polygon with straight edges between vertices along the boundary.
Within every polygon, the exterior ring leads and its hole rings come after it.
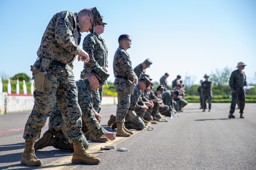
MULTIPOLYGON (((97 140, 97 139, 101 138, 103 134, 105 134, 106 130, 99 124, 100 122, 98 122, 98 120, 97 120, 98 113, 93 108, 93 100, 92 100, 92 91, 101 85, 98 84, 99 85, 98 86, 97 82, 94 83, 92 81, 92 79, 93 79, 94 74, 95 74, 95 76, 98 75, 100 77, 101 81, 107 86, 108 84, 107 84, 106 80, 109 77, 109 74, 106 74, 106 72, 103 69, 101 69, 99 66, 94 68, 91 72, 92 72, 91 76, 89 77, 90 80, 88 80, 89 78, 78 80, 78 81, 76 81, 76 85, 78 88, 78 103, 82 110, 82 132, 84 134, 90 132, 93 135, 93 137, 97 140), (96 117, 95 115, 97 115, 97 119, 95 118, 96 117)), ((95 80, 95 81, 97 81, 97 80, 95 80)), ((53 112, 54 112, 54 114, 51 114, 51 116, 49 118, 49 131, 55 137, 53 137, 53 136, 51 137, 52 139, 49 142, 50 144, 48 146, 53 146, 56 149, 64 149, 64 150, 74 151, 73 144, 68 142, 68 140, 66 139, 67 138, 66 134, 63 133, 63 129, 61 129, 64 121, 63 121, 60 109, 57 104, 55 105, 53 112)), ((64 126, 65 126, 65 124, 64 124, 64 126)), ((107 132, 107 133, 109 133, 109 132, 107 132)), ((39 139, 37 141, 37 143, 38 142, 40 143, 41 139, 39 139)), ((37 146, 37 143, 35 144, 36 150, 46 147, 43 145, 43 143, 39 144, 41 146, 37 146)), ((84 148, 87 150, 88 147, 89 147, 89 144, 86 140, 84 148)))

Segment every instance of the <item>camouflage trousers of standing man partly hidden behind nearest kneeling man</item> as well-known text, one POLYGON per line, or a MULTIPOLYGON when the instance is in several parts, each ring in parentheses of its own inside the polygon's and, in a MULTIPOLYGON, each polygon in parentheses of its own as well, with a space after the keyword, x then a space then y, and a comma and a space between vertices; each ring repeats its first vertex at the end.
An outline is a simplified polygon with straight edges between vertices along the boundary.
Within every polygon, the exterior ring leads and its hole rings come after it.
MULTIPOLYGON (((81 79, 85 79, 89 77, 90 74, 82 74, 81 72, 81 79)), ((103 93, 103 86, 99 87, 97 90, 92 90, 92 101, 93 101, 93 108, 100 113, 101 110, 101 100, 102 100, 102 93, 103 93)))

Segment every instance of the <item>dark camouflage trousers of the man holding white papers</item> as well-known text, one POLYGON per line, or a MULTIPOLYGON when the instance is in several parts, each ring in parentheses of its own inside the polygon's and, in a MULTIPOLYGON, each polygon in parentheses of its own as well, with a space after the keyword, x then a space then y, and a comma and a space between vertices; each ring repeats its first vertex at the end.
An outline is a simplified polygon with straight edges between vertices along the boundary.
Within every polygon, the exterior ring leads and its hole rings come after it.
POLYGON ((239 91, 238 93, 232 93, 232 101, 230 105, 229 113, 234 113, 236 109, 236 103, 239 101, 240 113, 243 113, 245 105, 245 92, 239 91))

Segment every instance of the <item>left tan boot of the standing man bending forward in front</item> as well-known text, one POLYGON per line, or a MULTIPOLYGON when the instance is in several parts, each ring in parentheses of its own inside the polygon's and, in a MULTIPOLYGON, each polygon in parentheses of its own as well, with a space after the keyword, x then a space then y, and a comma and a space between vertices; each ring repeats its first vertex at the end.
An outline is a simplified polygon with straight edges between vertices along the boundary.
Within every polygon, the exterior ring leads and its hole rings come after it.
POLYGON ((21 164, 27 166, 41 166, 42 161, 35 155, 34 140, 25 140, 25 149, 21 157, 21 164))

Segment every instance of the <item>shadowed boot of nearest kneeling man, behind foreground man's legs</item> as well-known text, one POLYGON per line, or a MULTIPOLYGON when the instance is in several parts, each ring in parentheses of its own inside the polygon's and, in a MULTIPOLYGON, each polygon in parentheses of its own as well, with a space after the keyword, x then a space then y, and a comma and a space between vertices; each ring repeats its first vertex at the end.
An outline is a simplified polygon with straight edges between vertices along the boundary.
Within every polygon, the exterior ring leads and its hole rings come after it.
POLYGON ((52 133, 49 130, 47 130, 44 133, 43 137, 41 137, 34 145, 35 151, 43 149, 47 146, 52 146, 52 139, 54 139, 52 133))

